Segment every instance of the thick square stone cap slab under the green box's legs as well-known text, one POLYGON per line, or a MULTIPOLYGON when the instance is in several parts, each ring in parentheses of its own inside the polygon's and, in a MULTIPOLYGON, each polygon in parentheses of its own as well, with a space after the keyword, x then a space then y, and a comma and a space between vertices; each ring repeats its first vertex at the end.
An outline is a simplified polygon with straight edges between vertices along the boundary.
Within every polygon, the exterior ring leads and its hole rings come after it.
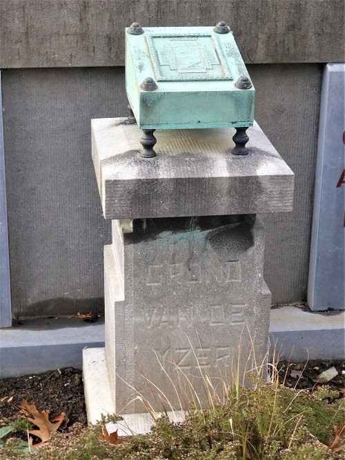
POLYGON ((249 154, 235 130, 157 130, 157 157, 139 156, 142 131, 125 118, 92 120, 92 158, 106 219, 287 212, 294 174, 255 123, 249 154))

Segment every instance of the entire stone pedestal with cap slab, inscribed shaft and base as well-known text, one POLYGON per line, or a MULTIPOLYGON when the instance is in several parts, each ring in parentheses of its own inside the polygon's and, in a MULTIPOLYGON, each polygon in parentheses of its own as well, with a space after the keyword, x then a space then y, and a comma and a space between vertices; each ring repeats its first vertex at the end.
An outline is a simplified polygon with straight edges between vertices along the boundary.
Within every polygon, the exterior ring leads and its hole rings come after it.
POLYGON ((293 172, 257 125, 247 157, 230 153, 233 130, 186 130, 157 132, 161 152, 142 159, 132 148, 136 131, 124 119, 92 121, 112 244, 104 250, 100 351, 109 402, 92 403, 95 350, 85 350, 90 421, 101 412, 143 412, 138 396, 155 410, 178 410, 190 386, 205 403, 207 379, 222 397, 222 382, 257 372, 268 347, 270 291, 256 214, 292 208, 293 172))

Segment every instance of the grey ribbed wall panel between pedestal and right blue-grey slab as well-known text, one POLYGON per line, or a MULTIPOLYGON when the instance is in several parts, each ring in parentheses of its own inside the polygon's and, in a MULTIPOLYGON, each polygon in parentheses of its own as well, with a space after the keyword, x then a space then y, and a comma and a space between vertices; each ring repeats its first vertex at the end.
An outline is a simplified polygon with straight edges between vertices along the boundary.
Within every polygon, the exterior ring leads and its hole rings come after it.
POLYGON ((273 303, 306 300, 322 66, 248 66, 255 119, 295 173, 293 212, 263 216, 273 303))

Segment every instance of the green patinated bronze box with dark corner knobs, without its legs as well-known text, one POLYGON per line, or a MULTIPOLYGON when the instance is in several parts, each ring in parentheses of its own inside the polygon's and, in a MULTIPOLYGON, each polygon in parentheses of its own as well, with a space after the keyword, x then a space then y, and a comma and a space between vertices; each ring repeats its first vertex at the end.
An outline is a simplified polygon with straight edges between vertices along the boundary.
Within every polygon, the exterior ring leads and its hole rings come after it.
POLYGON ((144 131, 253 126, 255 89, 224 22, 133 23, 126 28, 126 92, 144 131))

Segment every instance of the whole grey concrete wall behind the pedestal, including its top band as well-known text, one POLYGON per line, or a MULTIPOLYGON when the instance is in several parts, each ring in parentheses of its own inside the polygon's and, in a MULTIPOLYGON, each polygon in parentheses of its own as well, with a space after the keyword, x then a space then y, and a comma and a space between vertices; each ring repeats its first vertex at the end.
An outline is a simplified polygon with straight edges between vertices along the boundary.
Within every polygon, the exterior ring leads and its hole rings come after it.
POLYGON ((225 19, 255 118, 296 174, 295 210, 264 216, 273 301, 306 299, 322 63, 344 61, 342 0, 0 0, 13 316, 103 309, 90 119, 124 116, 124 27, 225 19))

